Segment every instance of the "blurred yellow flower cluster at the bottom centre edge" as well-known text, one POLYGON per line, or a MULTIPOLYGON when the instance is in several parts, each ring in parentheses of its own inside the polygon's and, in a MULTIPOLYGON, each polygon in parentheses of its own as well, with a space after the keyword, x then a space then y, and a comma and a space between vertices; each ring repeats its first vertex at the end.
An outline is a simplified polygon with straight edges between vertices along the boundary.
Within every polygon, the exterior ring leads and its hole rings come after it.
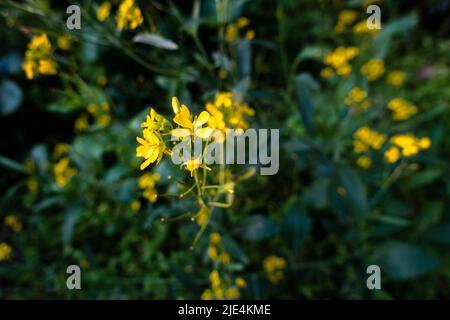
POLYGON ((210 289, 205 289, 203 291, 200 299, 202 300, 233 300, 240 297, 239 288, 244 288, 247 286, 247 282, 241 278, 237 277, 234 284, 230 284, 227 281, 223 281, 220 278, 219 272, 213 270, 209 275, 209 281, 211 283, 210 289))

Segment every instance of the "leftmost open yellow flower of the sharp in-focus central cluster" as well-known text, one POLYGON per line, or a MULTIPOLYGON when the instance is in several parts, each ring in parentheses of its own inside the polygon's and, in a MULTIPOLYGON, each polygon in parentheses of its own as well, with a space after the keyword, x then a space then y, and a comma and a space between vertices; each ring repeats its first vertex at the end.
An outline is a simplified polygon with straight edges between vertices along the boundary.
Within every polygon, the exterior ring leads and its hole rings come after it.
POLYGON ((145 159, 140 166, 141 170, 144 170, 151 163, 159 163, 159 161, 161 161, 166 146, 159 134, 152 132, 149 129, 144 129, 142 134, 144 135, 144 139, 136 137, 137 142, 141 144, 136 148, 136 157, 145 159))

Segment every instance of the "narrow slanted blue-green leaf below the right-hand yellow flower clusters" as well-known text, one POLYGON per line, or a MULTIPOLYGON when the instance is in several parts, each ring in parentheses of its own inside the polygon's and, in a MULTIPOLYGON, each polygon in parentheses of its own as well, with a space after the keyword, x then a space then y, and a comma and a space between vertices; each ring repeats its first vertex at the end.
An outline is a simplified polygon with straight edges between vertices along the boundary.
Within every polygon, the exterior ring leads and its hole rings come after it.
POLYGON ((338 169, 338 176, 352 205, 365 213, 368 209, 366 189, 358 175, 348 167, 341 167, 338 169))

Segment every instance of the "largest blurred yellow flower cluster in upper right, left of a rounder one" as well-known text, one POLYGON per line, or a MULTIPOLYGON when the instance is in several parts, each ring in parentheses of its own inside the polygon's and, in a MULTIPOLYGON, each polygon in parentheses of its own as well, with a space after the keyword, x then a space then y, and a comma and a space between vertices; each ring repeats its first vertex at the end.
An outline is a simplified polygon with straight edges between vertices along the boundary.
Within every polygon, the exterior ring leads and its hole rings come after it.
MULTIPOLYGON (((353 60, 359 54, 357 47, 337 47, 334 51, 328 52, 324 57, 324 63, 333 67, 340 76, 347 77, 352 72, 352 66, 349 61, 353 60)), ((331 68, 330 68, 331 69, 331 68)), ((325 68, 322 70, 323 77, 333 75, 333 70, 325 68)))

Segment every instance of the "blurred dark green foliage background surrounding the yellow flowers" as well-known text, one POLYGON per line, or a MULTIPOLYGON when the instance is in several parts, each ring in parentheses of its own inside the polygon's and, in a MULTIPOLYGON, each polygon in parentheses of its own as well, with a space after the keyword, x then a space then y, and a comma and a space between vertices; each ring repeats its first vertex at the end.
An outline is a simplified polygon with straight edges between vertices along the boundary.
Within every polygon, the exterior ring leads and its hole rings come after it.
POLYGON ((450 297, 450 1, 136 0, 142 23, 123 30, 122 1, 108 3, 99 17, 102 1, 0 0, 1 298, 207 298, 215 270, 225 298, 450 297), (370 3, 382 29, 358 31, 370 3), (66 27, 70 4, 80 30, 66 27), (43 33, 58 68, 30 80, 27 44, 43 33), (133 41, 144 33, 157 37, 133 41), (350 70, 329 55, 340 47, 357 48, 350 70), (346 99, 355 87, 368 107, 346 99), (172 96, 198 113, 224 91, 255 110, 250 127, 280 129, 280 170, 236 180, 190 249, 198 223, 161 222, 196 210, 164 196, 189 174, 168 158, 149 167, 161 195, 149 201, 135 137, 150 106, 170 119, 172 96), (394 98, 416 112, 395 120, 394 98), (385 137, 363 156, 361 127, 385 137), (391 163, 396 134, 431 145, 391 163), (211 233, 228 263, 211 259, 211 233), (66 287, 72 264, 82 290, 66 287), (366 287, 372 264, 381 290, 366 287))

